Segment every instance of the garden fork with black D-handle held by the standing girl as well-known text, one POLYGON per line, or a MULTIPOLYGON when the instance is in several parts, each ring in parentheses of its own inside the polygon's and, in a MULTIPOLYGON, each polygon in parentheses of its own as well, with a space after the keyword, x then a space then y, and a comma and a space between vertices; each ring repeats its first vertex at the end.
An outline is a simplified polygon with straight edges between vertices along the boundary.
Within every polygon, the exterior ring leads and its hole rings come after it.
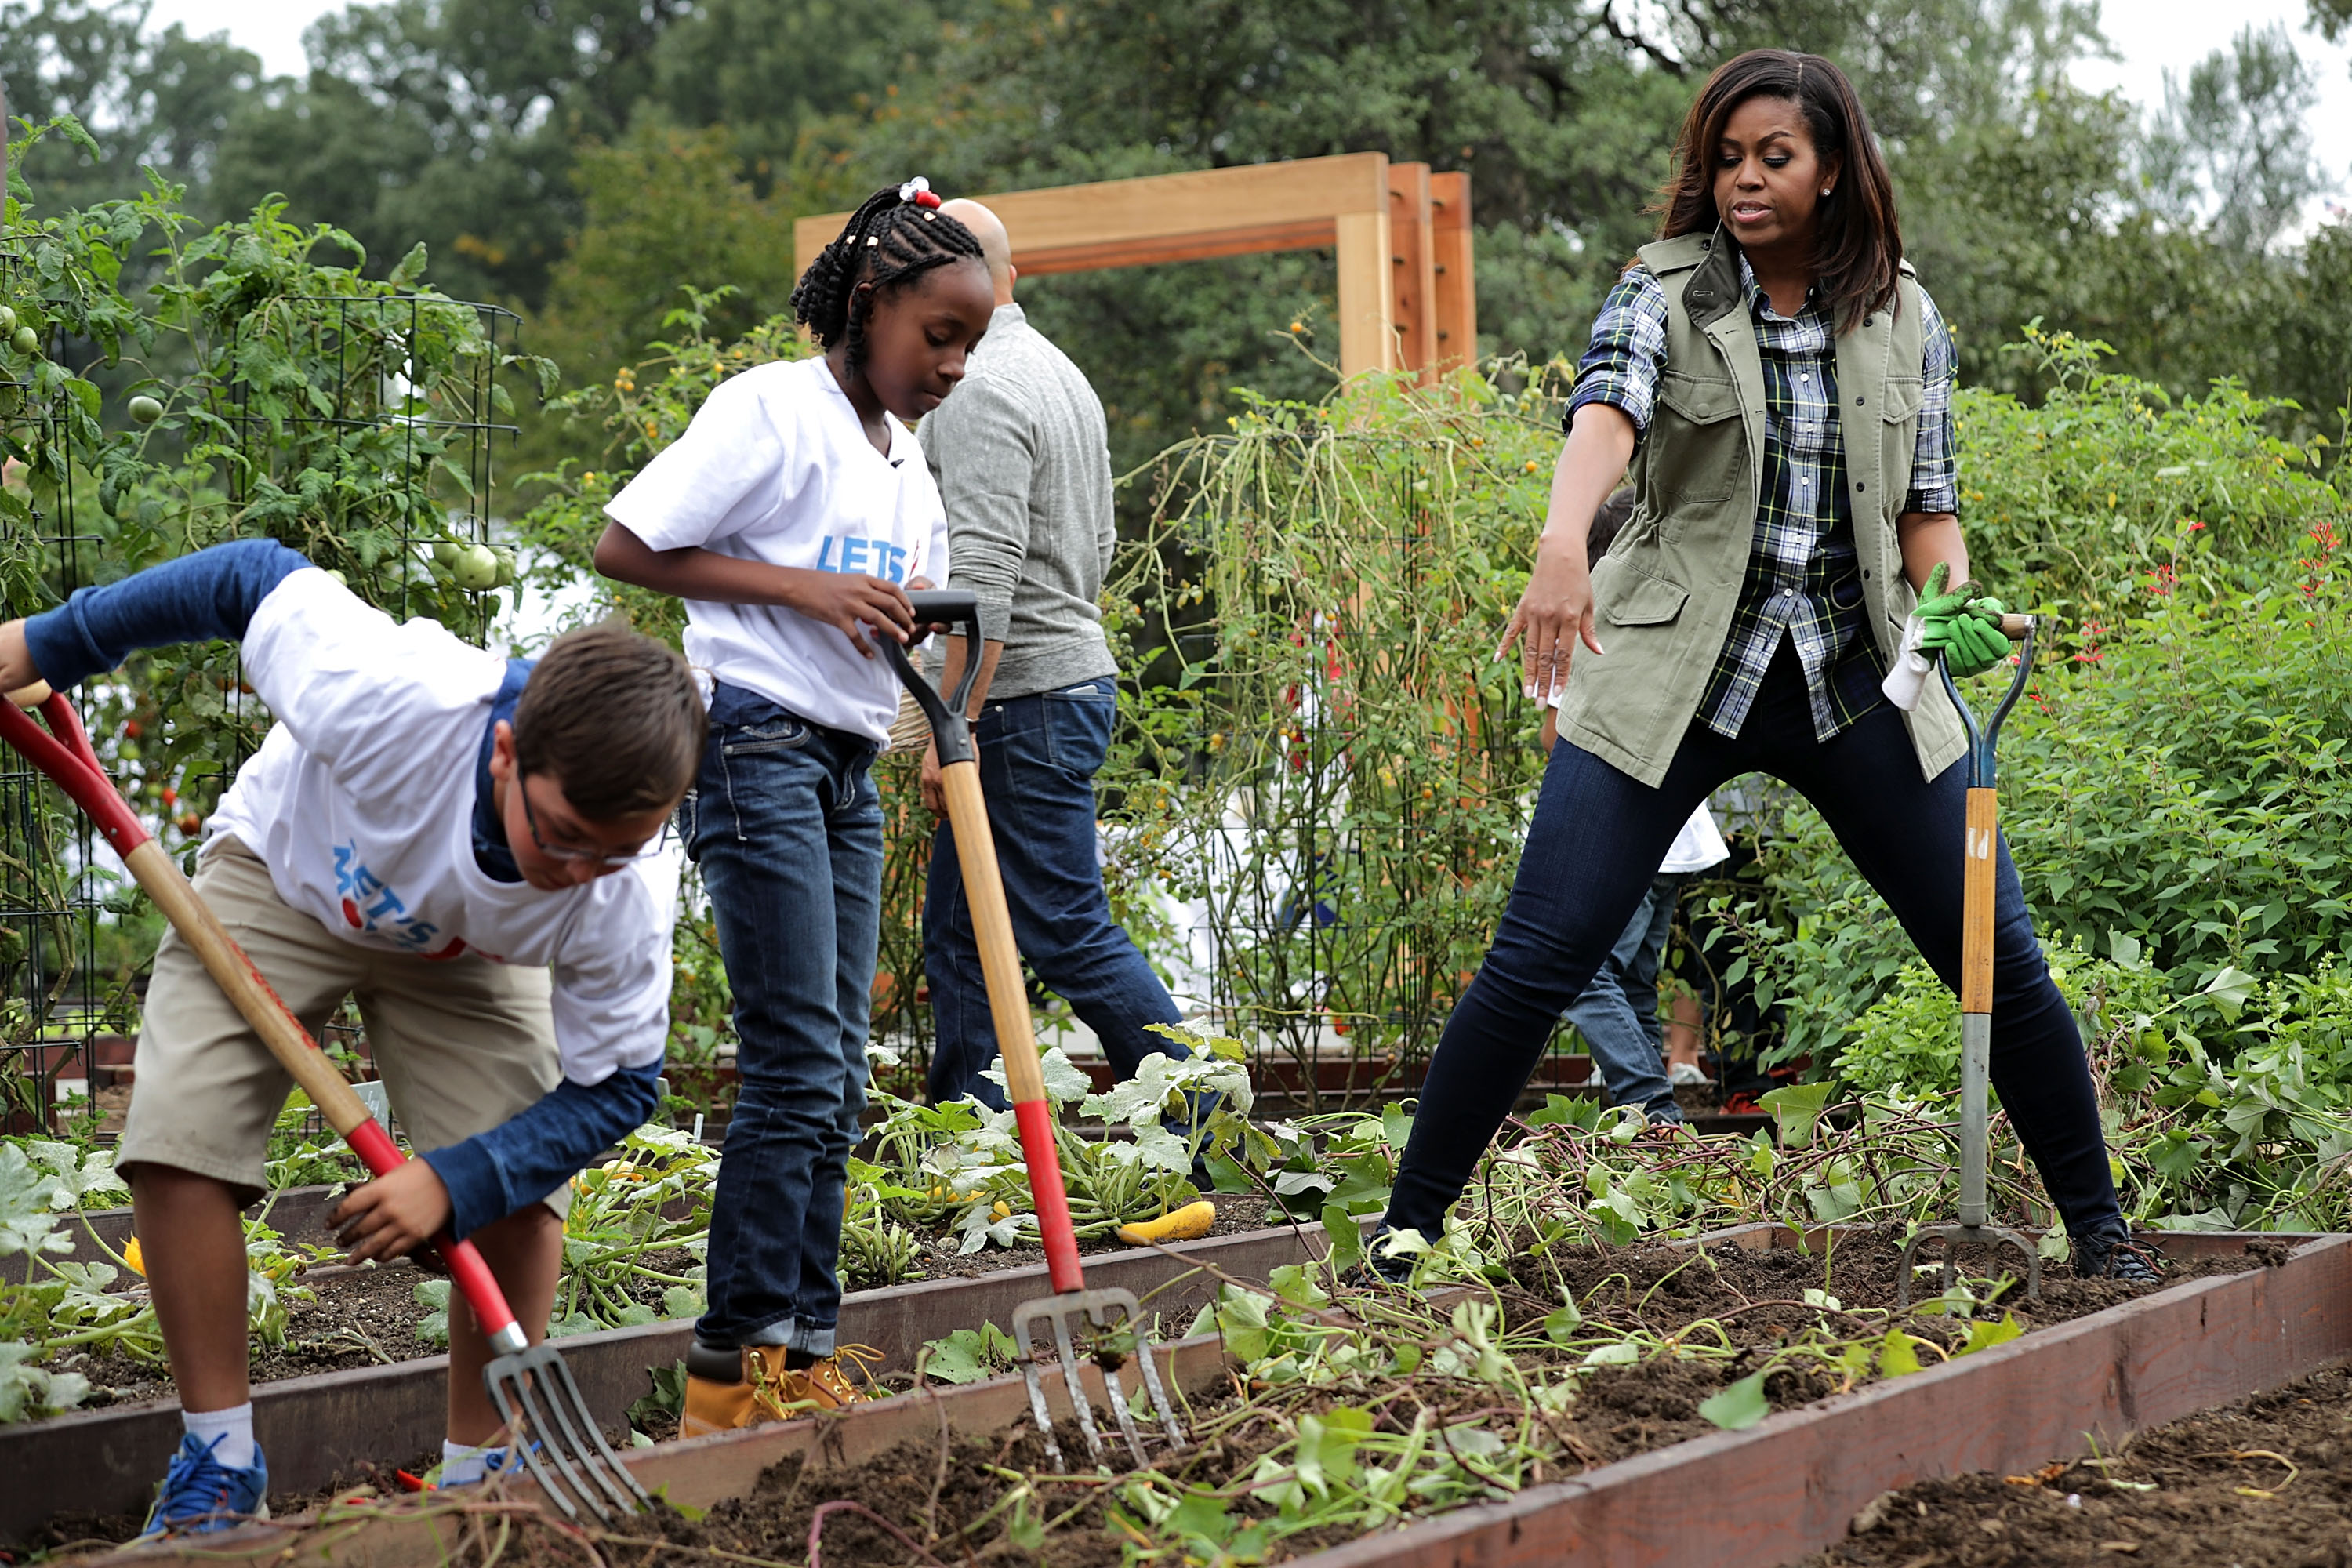
MULTIPOLYGON (((1152 1361, 1150 1331, 1143 1326, 1143 1305, 1134 1291, 1089 1291, 1077 1265, 1077 1237, 1070 1229, 1070 1201, 1061 1185, 1061 1154, 1054 1150, 1054 1110, 1044 1098, 1044 1074, 1037 1067, 1037 1034, 1030 1025, 1028 987, 1021 983, 1021 952, 1014 947, 1014 922, 1004 907, 1004 882, 997 875, 997 846, 988 830, 988 804, 981 799, 981 764, 971 750, 971 722, 964 710, 971 705, 971 682, 981 672, 981 607, 969 590, 910 592, 915 625, 964 628, 964 675, 955 691, 941 701, 922 672, 908 661, 891 637, 882 637, 882 651, 906 689, 931 719, 931 738, 938 745, 938 783, 948 797, 948 825, 955 830, 955 856, 964 867, 964 900, 971 905, 971 931, 981 947, 981 978, 988 983, 988 1013, 997 1025, 997 1048, 1004 1053, 1004 1084, 1011 1088, 1014 1121, 1021 1128, 1021 1157, 1028 1161, 1030 1199, 1037 1204, 1037 1237, 1044 1241, 1047 1274, 1054 1295, 1040 1295, 1014 1307, 1014 1345, 1021 1347, 1021 1375, 1028 1378, 1030 1413, 1044 1432, 1044 1450, 1061 1465, 1061 1446, 1054 1441, 1054 1418, 1044 1403, 1040 1378, 1040 1354, 1033 1340, 1040 1326, 1049 1326, 1054 1349, 1061 1356, 1061 1375, 1070 1389, 1070 1410, 1077 1429, 1087 1434, 1087 1450, 1103 1458, 1103 1439, 1094 1427, 1094 1410, 1080 1382, 1077 1345, 1070 1321, 1091 1326, 1091 1359, 1103 1371, 1103 1399, 1112 1420, 1127 1436, 1129 1453, 1143 1465, 1143 1434, 1136 1429, 1134 1410, 1127 1408, 1127 1392, 1120 1387, 1120 1366, 1134 1349, 1143 1373, 1143 1389, 1152 1401, 1152 1418, 1167 1427, 1169 1446, 1183 1450, 1183 1427, 1176 1425, 1176 1406, 1169 1403, 1160 1382, 1160 1366, 1152 1361)), ((1084 1331, 1082 1331, 1084 1333, 1084 1331)))

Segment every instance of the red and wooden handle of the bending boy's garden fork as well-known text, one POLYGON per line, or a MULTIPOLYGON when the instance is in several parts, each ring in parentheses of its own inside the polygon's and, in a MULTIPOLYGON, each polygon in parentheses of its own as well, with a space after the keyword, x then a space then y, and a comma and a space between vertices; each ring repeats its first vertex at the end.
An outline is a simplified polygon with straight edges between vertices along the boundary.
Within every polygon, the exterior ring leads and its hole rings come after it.
MULTIPOLYGON (((261 971, 254 969, 254 961, 228 936, 228 929, 221 926, 219 917, 188 886, 179 863, 162 851, 146 825, 122 802, 122 795, 115 792, 113 780, 106 778, 106 769, 99 766, 99 757, 89 748, 89 736, 82 731, 82 719, 73 712, 73 703, 49 693, 45 686, 12 696, 24 701, 42 698, 40 712, 49 719, 49 729, 35 724, 14 703, 0 703, 0 741, 7 741, 89 813, 89 820, 115 846, 132 877, 139 879, 139 886, 148 891, 148 898, 172 922, 179 938, 188 943, 205 964, 205 971, 221 985, 238 1013, 245 1016, 245 1023, 261 1037, 261 1044, 270 1048, 278 1065, 310 1095, 310 1103, 318 1105, 327 1124, 343 1135, 343 1143, 350 1145, 367 1168, 376 1175, 397 1171, 402 1164, 400 1147, 376 1126, 367 1105, 343 1081, 343 1074, 320 1053, 318 1041, 294 1020, 294 1013, 270 990, 270 983, 261 978, 261 971)), ((489 1338, 492 1349, 496 1354, 524 1349, 527 1338, 522 1326, 515 1321, 513 1309, 506 1305, 506 1293, 473 1241, 440 1237, 433 1246, 449 1265, 452 1279, 466 1293, 466 1305, 473 1307, 473 1316, 489 1338)))

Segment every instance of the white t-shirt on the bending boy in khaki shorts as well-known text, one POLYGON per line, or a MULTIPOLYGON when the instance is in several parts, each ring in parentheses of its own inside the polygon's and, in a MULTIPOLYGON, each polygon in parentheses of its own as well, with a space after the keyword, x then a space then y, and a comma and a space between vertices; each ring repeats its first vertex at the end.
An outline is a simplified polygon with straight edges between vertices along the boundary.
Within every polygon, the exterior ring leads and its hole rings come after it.
POLYGON ((548 966, 574 1084, 661 1058, 677 856, 560 893, 475 865, 475 766, 503 658, 433 621, 397 625, 313 567, 261 599, 245 675, 278 724, 207 837, 238 835, 278 896, 343 940, 548 966))

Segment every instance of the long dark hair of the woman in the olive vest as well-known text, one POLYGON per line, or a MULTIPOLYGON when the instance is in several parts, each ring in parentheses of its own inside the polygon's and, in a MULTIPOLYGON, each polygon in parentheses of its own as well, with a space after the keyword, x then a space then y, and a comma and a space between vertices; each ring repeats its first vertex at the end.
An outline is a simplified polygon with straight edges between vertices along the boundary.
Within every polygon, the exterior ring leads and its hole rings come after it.
POLYGON ((1896 183, 1879 158, 1853 82, 1818 54, 1750 49, 1724 61, 1698 89, 1675 139, 1675 176, 1661 190, 1658 237, 1715 233, 1715 148, 1731 110, 1748 99, 1785 99, 1804 115, 1813 150, 1839 162, 1837 186, 1820 197, 1813 240, 1813 282, 1820 287, 1839 331, 1851 331, 1872 310, 1896 303, 1903 261, 1903 223, 1896 219, 1896 183))

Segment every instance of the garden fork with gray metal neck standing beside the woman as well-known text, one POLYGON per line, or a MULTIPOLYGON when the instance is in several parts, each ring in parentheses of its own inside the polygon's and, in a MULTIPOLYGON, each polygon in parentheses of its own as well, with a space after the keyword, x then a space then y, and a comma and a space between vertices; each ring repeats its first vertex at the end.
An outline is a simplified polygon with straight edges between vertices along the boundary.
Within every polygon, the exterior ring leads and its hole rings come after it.
POLYGON ((1952 708, 1969 726, 1969 825, 1962 846, 1966 858, 1959 903, 1959 1222, 1926 1225, 1903 1244, 1903 1260, 1896 1267, 1898 1307, 1910 1305, 1912 1260, 1922 1241, 1943 1241, 1945 1291, 1959 1274, 1959 1248, 1985 1246, 1997 1255, 2004 1246, 2013 1246, 2025 1253, 2025 1298, 2042 1298, 2042 1253, 2032 1239, 2002 1225, 1985 1225, 1985 1121, 1992 1077, 1992 870, 2002 842, 1999 802, 1992 790, 1992 748, 2002 738, 2002 719, 2018 705, 2034 670, 2034 618, 2002 616, 2002 632, 2023 639, 2018 672, 2009 677, 2009 693, 1983 729, 1978 729, 1966 698, 1959 696, 1952 665, 1943 654, 1936 656, 1943 689, 1952 693, 1952 708))

